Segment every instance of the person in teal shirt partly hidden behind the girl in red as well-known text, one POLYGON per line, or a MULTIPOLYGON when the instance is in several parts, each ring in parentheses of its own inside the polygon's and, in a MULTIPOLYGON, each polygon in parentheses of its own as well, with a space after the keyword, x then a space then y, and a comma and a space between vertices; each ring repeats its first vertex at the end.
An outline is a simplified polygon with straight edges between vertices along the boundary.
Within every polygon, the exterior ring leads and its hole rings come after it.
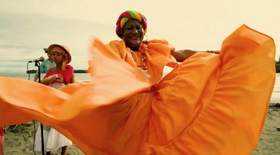
MULTIPOLYGON (((48 48, 43 48, 45 50, 45 53, 48 55, 48 59, 46 59, 44 62, 41 63, 40 65, 40 71, 42 73, 48 73, 48 71, 52 68, 55 67, 55 62, 52 60, 52 55, 50 55, 50 52, 48 52, 48 48)), ((38 80, 38 71, 36 72, 34 76, 34 82, 38 80)))

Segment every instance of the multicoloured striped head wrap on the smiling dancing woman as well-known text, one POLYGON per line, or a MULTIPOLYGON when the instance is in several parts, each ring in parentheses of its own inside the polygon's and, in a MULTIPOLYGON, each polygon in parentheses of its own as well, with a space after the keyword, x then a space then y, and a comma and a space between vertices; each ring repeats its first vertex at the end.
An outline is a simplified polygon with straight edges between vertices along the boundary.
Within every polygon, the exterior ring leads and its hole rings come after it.
POLYGON ((128 20, 131 19, 135 19, 135 20, 139 20, 139 22, 141 22, 143 29, 144 29, 144 34, 146 34, 147 32, 147 18, 142 14, 139 13, 137 11, 125 11, 122 14, 120 14, 120 17, 118 18, 118 21, 116 23, 117 27, 116 27, 116 34, 118 35, 118 37, 120 37, 120 39, 123 39, 122 37, 122 29, 123 26, 125 25, 125 23, 128 20))

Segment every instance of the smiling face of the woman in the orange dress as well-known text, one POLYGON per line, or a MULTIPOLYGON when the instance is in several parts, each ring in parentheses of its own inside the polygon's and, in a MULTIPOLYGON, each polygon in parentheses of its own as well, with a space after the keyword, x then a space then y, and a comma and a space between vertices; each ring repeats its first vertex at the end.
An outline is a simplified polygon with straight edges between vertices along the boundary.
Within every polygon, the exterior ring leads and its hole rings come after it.
POLYGON ((125 41, 125 44, 129 48, 138 50, 143 38, 144 29, 141 22, 138 20, 129 20, 125 23, 123 27, 123 41, 125 41))

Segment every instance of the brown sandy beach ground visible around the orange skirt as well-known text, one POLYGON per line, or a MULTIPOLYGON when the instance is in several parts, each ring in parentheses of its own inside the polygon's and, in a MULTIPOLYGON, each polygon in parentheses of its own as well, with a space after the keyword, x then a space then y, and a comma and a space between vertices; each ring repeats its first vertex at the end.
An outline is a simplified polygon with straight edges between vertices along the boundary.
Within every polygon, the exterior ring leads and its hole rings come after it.
MULTIPOLYGON (((37 128, 38 124, 36 125, 37 128)), ((280 126, 280 108, 269 107, 267 112, 267 119, 265 126, 262 130, 262 135, 258 142, 258 147, 253 151, 251 155, 275 155, 280 154, 280 131, 276 130, 276 127, 280 126)), ((6 155, 22 155, 22 154, 34 154, 33 142, 34 142, 34 125, 22 124, 15 128, 10 126, 6 130, 4 149, 6 155)), ((40 151, 36 151, 36 154, 41 154, 40 151)), ((59 155, 60 149, 57 149, 52 153, 53 155, 59 155)), ((82 155, 75 145, 68 147, 67 154, 69 155, 82 155)))

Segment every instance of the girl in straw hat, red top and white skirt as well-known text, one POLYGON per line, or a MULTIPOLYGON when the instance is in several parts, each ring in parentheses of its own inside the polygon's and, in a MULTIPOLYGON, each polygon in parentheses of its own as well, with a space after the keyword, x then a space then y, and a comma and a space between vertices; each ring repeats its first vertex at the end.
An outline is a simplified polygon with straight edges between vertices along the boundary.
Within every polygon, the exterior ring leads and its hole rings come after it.
MULTIPOLYGON (((68 65, 71 62, 71 55, 67 46, 61 46, 52 44, 48 47, 48 55, 52 55, 52 60, 55 63, 55 67, 48 69, 48 73, 42 79, 41 83, 52 88, 62 88, 69 83, 74 83, 73 67, 68 65)), ((49 56, 50 58, 50 56, 49 56)), ((66 155, 67 146, 72 142, 67 137, 59 133, 50 126, 43 125, 44 146, 47 155, 51 154, 51 151, 62 147, 62 155, 66 155)), ((41 151, 41 126, 38 127, 35 138, 35 150, 41 151)))

